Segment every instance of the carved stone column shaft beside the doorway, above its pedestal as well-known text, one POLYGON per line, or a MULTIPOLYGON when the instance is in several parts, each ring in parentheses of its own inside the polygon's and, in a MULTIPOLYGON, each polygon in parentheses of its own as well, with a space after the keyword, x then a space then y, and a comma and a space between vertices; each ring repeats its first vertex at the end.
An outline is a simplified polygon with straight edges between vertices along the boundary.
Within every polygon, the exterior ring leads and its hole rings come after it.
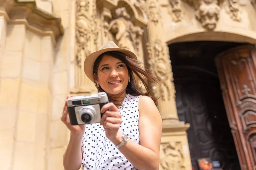
POLYGON ((178 120, 175 103, 169 48, 164 42, 164 31, 159 12, 158 1, 148 0, 148 64, 151 73, 160 79, 158 85, 152 84, 152 91, 158 99, 159 111, 163 121, 178 120))

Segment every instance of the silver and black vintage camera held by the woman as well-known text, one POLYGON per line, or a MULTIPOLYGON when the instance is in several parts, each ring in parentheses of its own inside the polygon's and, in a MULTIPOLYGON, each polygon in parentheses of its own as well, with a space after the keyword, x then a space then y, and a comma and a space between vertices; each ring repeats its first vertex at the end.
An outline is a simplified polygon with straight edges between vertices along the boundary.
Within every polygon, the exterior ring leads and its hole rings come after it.
POLYGON ((105 92, 88 96, 74 96, 67 99, 67 109, 71 125, 98 123, 103 116, 100 110, 108 103, 105 92))

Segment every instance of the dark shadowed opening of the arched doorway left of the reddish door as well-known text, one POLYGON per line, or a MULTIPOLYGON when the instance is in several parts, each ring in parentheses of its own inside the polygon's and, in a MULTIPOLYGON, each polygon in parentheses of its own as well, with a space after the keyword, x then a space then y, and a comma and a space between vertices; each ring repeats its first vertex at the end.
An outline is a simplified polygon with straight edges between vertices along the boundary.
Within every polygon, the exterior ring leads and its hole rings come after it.
POLYGON ((199 170, 200 158, 218 159, 223 170, 241 170, 214 61, 238 45, 205 41, 169 45, 178 116, 191 125, 187 133, 194 170, 199 170))

